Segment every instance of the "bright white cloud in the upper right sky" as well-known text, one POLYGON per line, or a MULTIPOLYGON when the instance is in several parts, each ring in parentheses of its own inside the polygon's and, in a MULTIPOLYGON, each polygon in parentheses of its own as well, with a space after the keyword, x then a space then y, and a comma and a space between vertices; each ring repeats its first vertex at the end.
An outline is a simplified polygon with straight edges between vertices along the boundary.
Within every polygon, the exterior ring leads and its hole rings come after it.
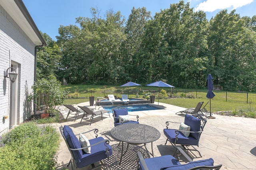
POLYGON ((233 7, 232 10, 252 3, 253 0, 206 0, 196 6, 195 11, 213 12, 219 9, 233 7))

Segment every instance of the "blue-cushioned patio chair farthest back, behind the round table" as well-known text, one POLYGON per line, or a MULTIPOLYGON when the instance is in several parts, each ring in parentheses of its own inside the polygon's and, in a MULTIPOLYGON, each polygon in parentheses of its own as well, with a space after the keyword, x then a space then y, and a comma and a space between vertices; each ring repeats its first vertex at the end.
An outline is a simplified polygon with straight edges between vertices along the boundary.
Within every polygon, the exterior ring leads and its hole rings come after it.
POLYGON ((128 114, 127 108, 118 106, 112 109, 112 113, 114 117, 114 126, 126 123, 139 123, 139 116, 128 114), (130 116, 136 116, 137 121, 130 120, 130 116))

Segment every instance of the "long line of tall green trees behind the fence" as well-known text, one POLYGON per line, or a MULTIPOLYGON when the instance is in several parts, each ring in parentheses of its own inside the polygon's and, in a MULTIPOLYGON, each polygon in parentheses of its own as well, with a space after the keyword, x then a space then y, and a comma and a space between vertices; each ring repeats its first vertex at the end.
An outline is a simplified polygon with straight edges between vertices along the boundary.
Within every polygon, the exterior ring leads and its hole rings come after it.
POLYGON ((162 80, 180 88, 214 85, 256 91, 256 16, 222 10, 206 19, 181 0, 154 17, 133 8, 126 21, 118 11, 78 17, 58 29, 57 41, 38 49, 37 78, 54 74, 72 84, 148 84, 162 80))

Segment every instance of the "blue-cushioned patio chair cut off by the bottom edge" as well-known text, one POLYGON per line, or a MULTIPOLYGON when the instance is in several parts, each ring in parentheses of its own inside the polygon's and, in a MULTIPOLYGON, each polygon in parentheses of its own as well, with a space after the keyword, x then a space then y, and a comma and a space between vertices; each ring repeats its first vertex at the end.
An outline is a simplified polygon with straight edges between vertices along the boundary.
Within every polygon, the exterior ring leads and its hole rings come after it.
POLYGON ((141 152, 137 152, 137 154, 140 159, 138 170, 219 170, 222 166, 222 164, 214 166, 214 160, 212 158, 192 161, 192 159, 185 155, 190 162, 180 164, 171 155, 144 159, 141 152))

